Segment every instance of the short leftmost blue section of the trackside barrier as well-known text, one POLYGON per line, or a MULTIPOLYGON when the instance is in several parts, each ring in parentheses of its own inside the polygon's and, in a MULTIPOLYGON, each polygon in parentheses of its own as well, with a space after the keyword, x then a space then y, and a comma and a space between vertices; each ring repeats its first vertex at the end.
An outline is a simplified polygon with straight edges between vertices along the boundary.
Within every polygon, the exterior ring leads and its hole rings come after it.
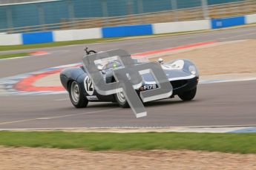
POLYGON ((53 32, 22 33, 23 44, 37 44, 53 42, 53 32))

